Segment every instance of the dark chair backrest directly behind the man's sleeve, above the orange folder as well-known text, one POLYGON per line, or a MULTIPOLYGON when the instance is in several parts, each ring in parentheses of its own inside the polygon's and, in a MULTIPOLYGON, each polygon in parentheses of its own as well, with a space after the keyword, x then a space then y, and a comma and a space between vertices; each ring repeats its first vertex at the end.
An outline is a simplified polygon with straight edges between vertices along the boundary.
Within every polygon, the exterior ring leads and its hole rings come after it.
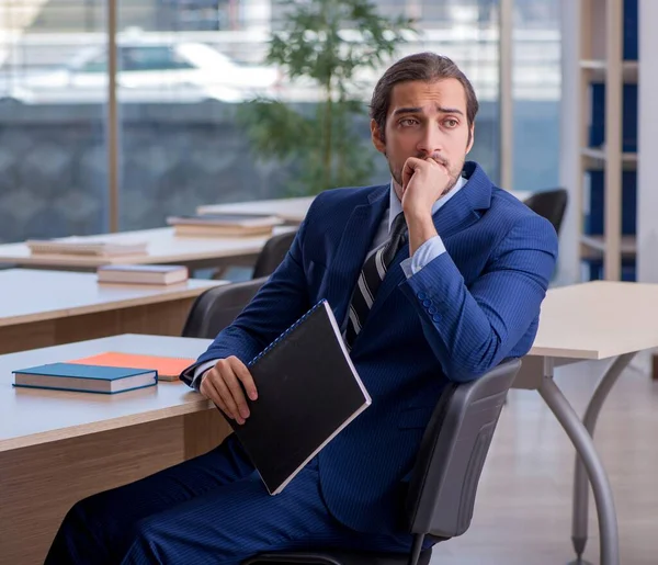
POLYGON ((184 338, 215 338, 219 331, 236 319, 266 280, 268 278, 263 276, 205 291, 197 296, 190 308, 182 336, 184 338))

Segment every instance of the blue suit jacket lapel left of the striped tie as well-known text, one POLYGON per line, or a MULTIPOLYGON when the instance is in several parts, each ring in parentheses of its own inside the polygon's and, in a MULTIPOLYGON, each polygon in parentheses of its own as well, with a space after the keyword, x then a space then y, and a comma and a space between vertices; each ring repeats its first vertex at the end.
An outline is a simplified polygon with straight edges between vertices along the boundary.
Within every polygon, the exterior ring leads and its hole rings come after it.
POLYGON ((339 324, 345 320, 352 290, 388 208, 388 190, 389 185, 377 187, 364 204, 354 207, 340 239, 336 260, 329 267, 326 298, 339 324))

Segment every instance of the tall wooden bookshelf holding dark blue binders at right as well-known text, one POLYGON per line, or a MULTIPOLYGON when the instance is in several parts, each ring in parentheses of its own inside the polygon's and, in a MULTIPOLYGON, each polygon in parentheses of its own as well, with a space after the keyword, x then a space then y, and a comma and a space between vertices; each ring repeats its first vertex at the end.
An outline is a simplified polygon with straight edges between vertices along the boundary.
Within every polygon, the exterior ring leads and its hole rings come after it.
POLYGON ((563 124, 578 139, 570 181, 580 279, 635 280, 638 0, 568 3, 578 23, 564 57, 577 59, 578 80, 564 100, 577 124, 563 124))

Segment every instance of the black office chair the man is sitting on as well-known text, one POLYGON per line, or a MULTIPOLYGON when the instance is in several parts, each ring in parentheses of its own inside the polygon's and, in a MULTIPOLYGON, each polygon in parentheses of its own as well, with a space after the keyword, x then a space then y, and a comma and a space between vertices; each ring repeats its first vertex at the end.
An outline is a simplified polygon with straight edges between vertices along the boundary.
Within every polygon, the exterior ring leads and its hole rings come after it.
POLYGON ((410 555, 309 550, 261 553, 242 565, 427 565, 432 550, 422 551, 426 536, 445 541, 470 526, 494 430, 520 368, 520 360, 508 361, 477 381, 449 385, 441 395, 420 444, 404 509, 406 528, 413 534, 410 555))

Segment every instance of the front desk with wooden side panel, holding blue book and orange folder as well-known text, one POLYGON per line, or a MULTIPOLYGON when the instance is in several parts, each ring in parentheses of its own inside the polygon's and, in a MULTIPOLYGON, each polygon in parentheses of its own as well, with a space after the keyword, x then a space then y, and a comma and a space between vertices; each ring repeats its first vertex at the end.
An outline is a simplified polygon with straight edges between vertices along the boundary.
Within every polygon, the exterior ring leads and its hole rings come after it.
POLYGON ((43 563, 78 499, 204 453, 229 432, 182 383, 102 396, 13 388, 11 371, 107 350, 196 358, 208 343, 127 335, 0 355, 0 564, 43 563))

